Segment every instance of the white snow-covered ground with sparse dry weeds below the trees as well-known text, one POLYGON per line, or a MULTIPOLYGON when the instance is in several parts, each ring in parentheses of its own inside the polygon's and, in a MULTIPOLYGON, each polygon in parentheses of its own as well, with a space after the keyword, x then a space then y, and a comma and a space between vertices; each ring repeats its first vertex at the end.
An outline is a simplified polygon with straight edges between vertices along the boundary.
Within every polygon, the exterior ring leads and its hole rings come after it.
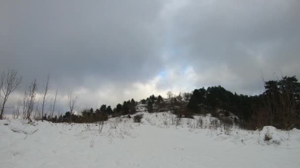
POLYGON ((196 128, 197 119, 144 113, 142 123, 0 120, 1 168, 300 168, 300 130, 196 128), (174 119, 174 118, 173 118, 174 119), (268 132, 272 139, 264 141, 268 132))

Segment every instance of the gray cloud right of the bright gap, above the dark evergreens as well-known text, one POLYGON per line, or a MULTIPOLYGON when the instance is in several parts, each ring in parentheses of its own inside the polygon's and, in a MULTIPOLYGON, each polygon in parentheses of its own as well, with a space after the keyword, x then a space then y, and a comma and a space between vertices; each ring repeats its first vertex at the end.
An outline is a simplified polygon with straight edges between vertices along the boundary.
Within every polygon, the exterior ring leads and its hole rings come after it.
POLYGON ((298 0, 191 0, 176 16, 173 27, 180 35, 174 47, 199 75, 217 69, 211 78, 227 73, 237 83, 221 78, 214 84, 253 94, 262 83, 261 70, 266 78, 279 69, 299 77, 299 7, 298 0))

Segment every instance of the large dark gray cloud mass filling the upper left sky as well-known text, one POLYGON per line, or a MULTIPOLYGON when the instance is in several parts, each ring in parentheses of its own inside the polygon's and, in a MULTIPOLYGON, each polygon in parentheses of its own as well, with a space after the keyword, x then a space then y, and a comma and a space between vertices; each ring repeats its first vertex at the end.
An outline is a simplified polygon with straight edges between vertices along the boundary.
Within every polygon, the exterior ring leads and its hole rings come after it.
POLYGON ((152 75, 144 67, 160 66, 154 27, 160 6, 157 0, 7 0, 1 3, 1 67, 39 79, 50 72, 66 85, 89 75, 116 81, 152 75))

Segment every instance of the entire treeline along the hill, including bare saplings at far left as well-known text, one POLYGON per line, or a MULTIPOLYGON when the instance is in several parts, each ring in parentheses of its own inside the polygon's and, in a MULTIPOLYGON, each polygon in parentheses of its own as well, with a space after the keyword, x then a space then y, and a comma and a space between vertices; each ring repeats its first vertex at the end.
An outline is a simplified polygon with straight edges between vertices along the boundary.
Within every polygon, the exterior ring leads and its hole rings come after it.
MULTIPOLYGON (((14 69, 4 71, 0 74, 0 119, 3 119, 4 109, 7 109, 6 102, 10 95, 21 84, 22 77, 17 75, 14 69)), ((43 84, 42 99, 36 100, 37 80, 28 85, 24 96, 18 100, 16 109, 13 110, 13 117, 48 120, 52 122, 76 122, 90 123, 107 120, 109 117, 134 114, 137 112, 138 102, 134 99, 111 106, 102 105, 99 109, 84 109, 77 113, 78 95, 73 95, 72 89, 68 91, 68 109, 64 115, 54 116, 56 96, 50 101, 50 114, 45 112, 45 105, 49 96, 50 75, 43 84), (39 113, 39 105, 41 114, 39 113), (34 115, 32 115, 32 113, 34 115), (75 114, 76 112, 77 114, 75 114)), ((300 83, 296 76, 282 77, 278 80, 264 81, 264 91, 260 95, 248 96, 232 93, 222 86, 195 89, 191 93, 180 93, 174 95, 167 92, 167 98, 161 95, 141 100, 141 104, 148 112, 171 111, 178 117, 190 117, 194 114, 211 113, 215 117, 223 114, 228 117, 230 112, 238 118, 234 121, 247 129, 257 129, 270 125, 279 129, 289 130, 300 128, 300 83)), ((222 119, 222 118, 220 118, 222 119)))

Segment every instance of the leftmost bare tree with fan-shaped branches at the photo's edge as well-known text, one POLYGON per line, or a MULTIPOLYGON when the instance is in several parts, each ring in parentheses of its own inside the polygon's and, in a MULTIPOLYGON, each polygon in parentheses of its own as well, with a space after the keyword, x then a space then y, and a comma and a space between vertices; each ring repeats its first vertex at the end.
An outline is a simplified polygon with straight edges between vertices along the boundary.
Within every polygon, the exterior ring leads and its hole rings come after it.
POLYGON ((8 70, 7 73, 2 72, 1 74, 1 92, 0 96, 3 99, 2 102, 2 107, 1 107, 1 114, 0 114, 0 119, 3 117, 3 111, 5 108, 5 103, 7 102, 7 99, 9 95, 15 91, 15 89, 21 84, 22 82, 22 77, 17 77, 17 71, 14 69, 8 70))

